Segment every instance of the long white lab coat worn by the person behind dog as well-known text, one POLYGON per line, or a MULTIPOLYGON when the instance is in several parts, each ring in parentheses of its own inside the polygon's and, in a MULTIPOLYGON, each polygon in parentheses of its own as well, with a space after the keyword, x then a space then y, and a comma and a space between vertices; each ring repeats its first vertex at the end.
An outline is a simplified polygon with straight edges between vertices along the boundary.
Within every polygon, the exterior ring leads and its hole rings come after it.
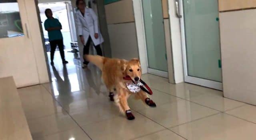
POLYGON ((89 36, 92 38, 95 46, 104 42, 98 27, 98 17, 91 8, 85 8, 84 16, 80 10, 76 12, 76 25, 78 28, 77 34, 84 37, 84 45, 86 45, 89 36), (95 33, 98 33, 98 39, 94 37, 95 33))

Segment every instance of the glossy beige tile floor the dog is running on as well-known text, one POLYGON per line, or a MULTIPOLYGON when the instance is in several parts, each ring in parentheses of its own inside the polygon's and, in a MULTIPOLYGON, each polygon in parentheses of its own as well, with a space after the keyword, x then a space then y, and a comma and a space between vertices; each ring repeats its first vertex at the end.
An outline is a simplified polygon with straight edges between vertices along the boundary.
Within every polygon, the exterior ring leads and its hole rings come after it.
POLYGON ((100 71, 70 62, 50 66, 52 83, 18 89, 34 140, 255 140, 256 107, 226 99, 221 91, 169 84, 150 74, 156 108, 129 99, 136 117, 126 120, 108 99, 100 71))

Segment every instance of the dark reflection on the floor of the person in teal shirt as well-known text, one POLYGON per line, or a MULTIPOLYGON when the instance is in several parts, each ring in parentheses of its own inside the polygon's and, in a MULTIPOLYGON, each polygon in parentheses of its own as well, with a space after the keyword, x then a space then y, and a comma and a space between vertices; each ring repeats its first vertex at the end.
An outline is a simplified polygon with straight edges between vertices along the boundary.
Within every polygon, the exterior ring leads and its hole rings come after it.
POLYGON ((59 92, 58 95, 58 101, 60 101, 61 105, 62 105, 62 113, 66 114, 66 111, 70 111, 69 105, 70 103, 73 102, 73 97, 71 95, 71 84, 70 84, 70 80, 68 78, 68 71, 66 66, 63 66, 63 77, 64 80, 62 80, 62 78, 60 77, 59 72, 56 70, 56 68, 54 66, 52 66, 52 70, 53 70, 53 74, 56 78, 56 83, 57 83, 57 89, 59 92), (65 100, 62 100, 65 99, 65 100), (63 110, 63 109, 66 109, 63 110))

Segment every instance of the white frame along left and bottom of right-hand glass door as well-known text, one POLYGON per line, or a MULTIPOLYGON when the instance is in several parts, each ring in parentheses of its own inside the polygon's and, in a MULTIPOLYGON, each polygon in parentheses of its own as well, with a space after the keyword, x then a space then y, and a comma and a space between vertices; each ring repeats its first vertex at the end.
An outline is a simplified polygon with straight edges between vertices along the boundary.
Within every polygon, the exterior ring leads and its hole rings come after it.
POLYGON ((184 72, 184 81, 196 84, 208 88, 222 90, 222 82, 216 82, 212 80, 197 78, 193 76, 188 76, 188 65, 187 65, 187 55, 186 55, 186 35, 185 35, 185 23, 184 23, 184 10, 183 10, 183 0, 179 0, 180 4, 180 29, 181 29, 181 44, 182 44, 182 58, 183 58, 183 72, 184 72))

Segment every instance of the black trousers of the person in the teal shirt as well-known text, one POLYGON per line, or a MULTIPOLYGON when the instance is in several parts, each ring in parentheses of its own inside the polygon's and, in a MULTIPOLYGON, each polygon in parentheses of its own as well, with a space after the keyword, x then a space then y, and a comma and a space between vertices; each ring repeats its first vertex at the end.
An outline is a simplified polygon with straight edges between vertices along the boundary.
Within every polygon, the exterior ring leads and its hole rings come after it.
POLYGON ((65 60, 63 39, 60 39, 60 40, 50 41, 50 46, 51 46, 51 62, 53 61, 54 52, 56 50, 57 45, 58 45, 58 48, 60 50, 60 56, 61 56, 62 61, 65 60))

